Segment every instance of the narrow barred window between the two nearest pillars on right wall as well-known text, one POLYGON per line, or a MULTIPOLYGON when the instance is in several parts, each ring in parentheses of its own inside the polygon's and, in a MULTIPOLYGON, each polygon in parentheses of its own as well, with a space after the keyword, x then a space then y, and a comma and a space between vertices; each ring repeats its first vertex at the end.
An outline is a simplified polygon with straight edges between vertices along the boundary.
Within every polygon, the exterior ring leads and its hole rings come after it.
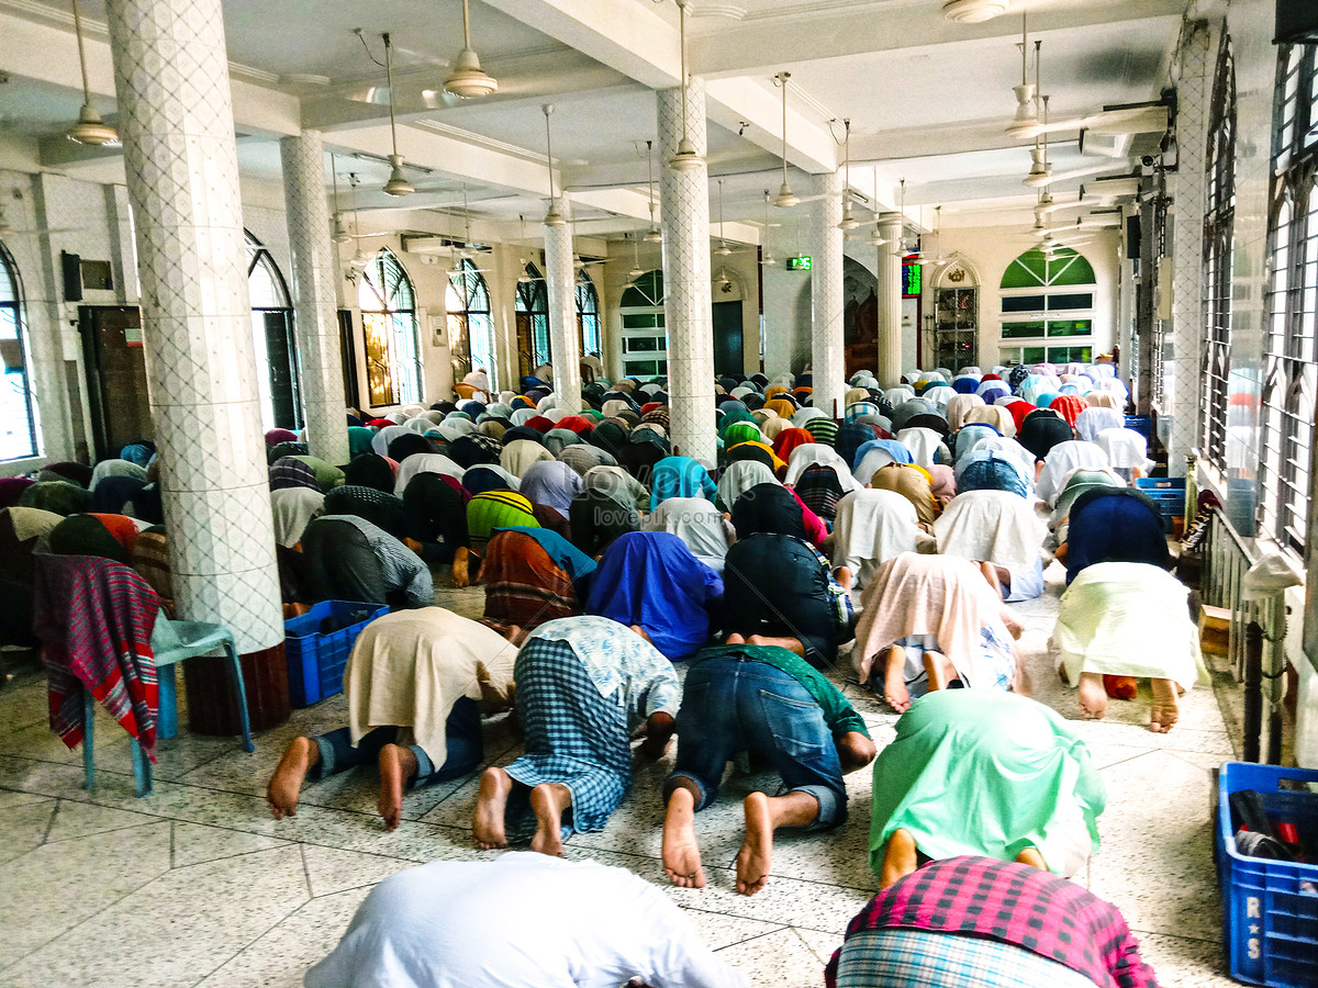
POLYGON ((1203 362, 1199 444, 1226 469, 1231 379, 1231 282, 1235 257, 1236 88, 1231 38, 1223 36, 1209 119, 1207 212, 1203 217, 1203 362))

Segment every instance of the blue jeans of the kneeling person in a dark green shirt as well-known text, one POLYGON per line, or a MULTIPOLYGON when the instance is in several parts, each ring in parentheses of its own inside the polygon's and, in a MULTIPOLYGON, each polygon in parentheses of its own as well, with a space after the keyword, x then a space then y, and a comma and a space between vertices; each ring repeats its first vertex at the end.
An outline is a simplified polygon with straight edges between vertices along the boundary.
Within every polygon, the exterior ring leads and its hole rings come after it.
POLYGON ((724 768, 742 751, 768 761, 793 792, 820 805, 811 830, 846 819, 846 785, 824 711, 805 688, 767 663, 725 655, 688 673, 677 710, 677 764, 664 798, 681 779, 700 790, 696 809, 718 796, 724 768))

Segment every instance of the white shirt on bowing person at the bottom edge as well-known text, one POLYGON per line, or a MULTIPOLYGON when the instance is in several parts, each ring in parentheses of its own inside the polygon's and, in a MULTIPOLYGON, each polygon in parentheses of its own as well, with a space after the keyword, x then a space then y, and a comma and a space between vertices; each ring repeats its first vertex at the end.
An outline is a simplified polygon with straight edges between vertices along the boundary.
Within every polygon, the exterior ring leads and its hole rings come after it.
POLYGON ((306 988, 745 988, 658 888, 534 851, 380 883, 306 988))

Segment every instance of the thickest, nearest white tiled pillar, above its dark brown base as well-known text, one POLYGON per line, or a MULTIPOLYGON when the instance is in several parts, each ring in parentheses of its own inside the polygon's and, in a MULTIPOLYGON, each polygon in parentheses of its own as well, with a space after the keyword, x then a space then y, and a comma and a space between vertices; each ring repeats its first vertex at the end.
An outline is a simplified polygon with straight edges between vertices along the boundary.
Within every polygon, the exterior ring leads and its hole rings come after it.
POLYGON ((174 594, 243 653, 283 615, 220 0, 108 0, 174 594))

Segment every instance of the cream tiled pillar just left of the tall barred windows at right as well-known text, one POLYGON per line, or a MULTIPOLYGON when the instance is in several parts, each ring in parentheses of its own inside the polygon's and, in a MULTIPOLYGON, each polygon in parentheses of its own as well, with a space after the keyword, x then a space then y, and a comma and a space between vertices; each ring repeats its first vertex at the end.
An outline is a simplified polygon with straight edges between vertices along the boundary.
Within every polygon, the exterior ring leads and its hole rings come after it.
POLYGON ((1185 476, 1185 454, 1199 440, 1199 393, 1203 358, 1203 212, 1207 203, 1205 159, 1209 100, 1213 95, 1210 32, 1205 21, 1186 25, 1181 36, 1181 76, 1176 86, 1176 144, 1180 170, 1172 202, 1172 335, 1176 378, 1170 399, 1172 427, 1166 468, 1185 476))

